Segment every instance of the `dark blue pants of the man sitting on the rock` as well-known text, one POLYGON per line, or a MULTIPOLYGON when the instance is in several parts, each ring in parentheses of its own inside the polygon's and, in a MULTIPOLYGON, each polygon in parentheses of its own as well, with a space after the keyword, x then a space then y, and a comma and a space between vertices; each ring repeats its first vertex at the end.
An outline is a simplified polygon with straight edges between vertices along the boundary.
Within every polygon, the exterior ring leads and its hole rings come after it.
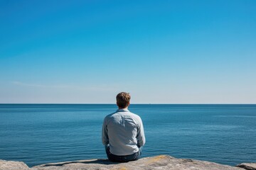
POLYGON ((139 152, 134 153, 134 154, 129 154, 129 155, 125 155, 125 156, 118 156, 115 154, 112 154, 110 152, 110 146, 106 146, 106 153, 107 153, 107 158, 111 161, 111 162, 129 162, 129 161, 136 161, 139 159, 139 157, 142 155, 142 150, 139 149, 139 152))

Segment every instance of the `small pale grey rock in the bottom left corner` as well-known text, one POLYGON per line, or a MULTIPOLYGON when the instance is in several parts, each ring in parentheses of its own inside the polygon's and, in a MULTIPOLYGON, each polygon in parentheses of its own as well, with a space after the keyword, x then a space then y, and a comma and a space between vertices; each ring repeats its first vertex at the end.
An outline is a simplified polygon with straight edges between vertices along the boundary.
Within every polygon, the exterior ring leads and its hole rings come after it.
POLYGON ((0 160, 1 170, 28 170, 28 166, 24 162, 13 162, 0 160))

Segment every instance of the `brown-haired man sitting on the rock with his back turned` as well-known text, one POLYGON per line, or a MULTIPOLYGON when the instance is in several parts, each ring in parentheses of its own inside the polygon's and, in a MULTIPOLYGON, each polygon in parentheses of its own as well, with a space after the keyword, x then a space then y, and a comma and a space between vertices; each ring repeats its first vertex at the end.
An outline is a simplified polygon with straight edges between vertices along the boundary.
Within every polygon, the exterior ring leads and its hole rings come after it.
POLYGON ((126 92, 117 94, 119 109, 107 115, 102 125, 102 143, 111 162, 139 159, 146 142, 142 119, 128 110, 130 98, 126 92))

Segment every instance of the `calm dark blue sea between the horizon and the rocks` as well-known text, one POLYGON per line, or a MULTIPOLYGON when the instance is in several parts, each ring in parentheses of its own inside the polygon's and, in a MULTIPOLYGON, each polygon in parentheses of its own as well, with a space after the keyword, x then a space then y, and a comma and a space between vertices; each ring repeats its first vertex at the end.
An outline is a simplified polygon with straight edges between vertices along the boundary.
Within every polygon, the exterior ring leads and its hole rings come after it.
MULTIPOLYGON (((28 166, 106 159, 111 104, 0 104, 0 159, 28 166)), ((131 105, 146 134, 142 157, 169 154, 234 166, 256 162, 256 105, 131 105)))

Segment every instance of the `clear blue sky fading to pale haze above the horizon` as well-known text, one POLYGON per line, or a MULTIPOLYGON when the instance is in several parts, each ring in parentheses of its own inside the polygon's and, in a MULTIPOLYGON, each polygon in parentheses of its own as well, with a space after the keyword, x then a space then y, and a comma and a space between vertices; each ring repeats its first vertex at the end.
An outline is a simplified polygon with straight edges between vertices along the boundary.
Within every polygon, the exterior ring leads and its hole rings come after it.
POLYGON ((256 1, 0 1, 0 103, 256 103, 256 1))

